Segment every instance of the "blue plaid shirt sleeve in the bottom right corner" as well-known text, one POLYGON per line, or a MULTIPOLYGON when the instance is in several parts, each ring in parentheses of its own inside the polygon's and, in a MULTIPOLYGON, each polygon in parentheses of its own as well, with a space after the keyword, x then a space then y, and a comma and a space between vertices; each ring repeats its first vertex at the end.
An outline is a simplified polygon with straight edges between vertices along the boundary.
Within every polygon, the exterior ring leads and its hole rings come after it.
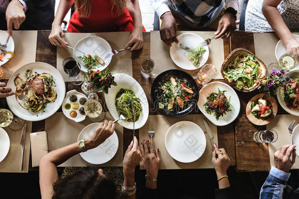
POLYGON ((260 199, 298 199, 299 188, 294 191, 287 185, 290 175, 291 173, 272 167, 261 188, 260 199))

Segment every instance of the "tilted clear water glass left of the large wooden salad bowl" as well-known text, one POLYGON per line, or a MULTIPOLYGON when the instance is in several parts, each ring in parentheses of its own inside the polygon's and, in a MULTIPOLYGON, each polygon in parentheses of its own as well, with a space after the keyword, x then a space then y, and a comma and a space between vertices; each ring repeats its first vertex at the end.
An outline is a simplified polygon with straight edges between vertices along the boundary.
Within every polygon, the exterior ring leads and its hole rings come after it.
POLYGON ((213 78, 215 78, 217 75, 217 69, 216 66, 213 64, 207 63, 203 65, 200 69, 200 71, 197 74, 196 83, 201 85, 208 84, 213 78))

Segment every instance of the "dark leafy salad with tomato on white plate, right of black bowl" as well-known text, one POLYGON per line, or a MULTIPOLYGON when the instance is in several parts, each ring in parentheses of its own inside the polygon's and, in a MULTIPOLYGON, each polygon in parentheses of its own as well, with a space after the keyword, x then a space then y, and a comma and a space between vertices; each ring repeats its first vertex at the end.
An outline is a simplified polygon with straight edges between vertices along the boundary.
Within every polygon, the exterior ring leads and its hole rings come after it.
POLYGON ((229 103, 230 96, 227 99, 226 95, 224 94, 225 92, 226 90, 220 90, 218 88, 218 93, 210 93, 206 98, 207 101, 203 104, 205 112, 208 114, 214 114, 217 120, 219 120, 219 117, 223 116, 227 112, 230 112, 230 107, 233 108, 233 106, 229 103))

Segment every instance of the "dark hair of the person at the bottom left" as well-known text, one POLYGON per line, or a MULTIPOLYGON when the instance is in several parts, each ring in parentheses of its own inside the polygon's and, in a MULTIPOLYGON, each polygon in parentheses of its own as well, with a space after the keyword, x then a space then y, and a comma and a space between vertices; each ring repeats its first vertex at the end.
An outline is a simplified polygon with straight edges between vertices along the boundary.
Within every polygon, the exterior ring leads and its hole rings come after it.
POLYGON ((53 185, 52 199, 118 199, 119 192, 112 179, 99 177, 98 170, 87 167, 58 179, 53 185))

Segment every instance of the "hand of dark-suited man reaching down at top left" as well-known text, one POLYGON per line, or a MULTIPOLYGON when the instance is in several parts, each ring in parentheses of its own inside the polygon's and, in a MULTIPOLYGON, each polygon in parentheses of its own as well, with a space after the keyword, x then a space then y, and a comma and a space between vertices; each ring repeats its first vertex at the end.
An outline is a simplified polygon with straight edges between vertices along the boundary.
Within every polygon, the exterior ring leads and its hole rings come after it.
POLYGON ((6 9, 6 22, 9 36, 12 36, 12 28, 19 29, 25 21, 24 6, 18 0, 12 0, 6 9))

